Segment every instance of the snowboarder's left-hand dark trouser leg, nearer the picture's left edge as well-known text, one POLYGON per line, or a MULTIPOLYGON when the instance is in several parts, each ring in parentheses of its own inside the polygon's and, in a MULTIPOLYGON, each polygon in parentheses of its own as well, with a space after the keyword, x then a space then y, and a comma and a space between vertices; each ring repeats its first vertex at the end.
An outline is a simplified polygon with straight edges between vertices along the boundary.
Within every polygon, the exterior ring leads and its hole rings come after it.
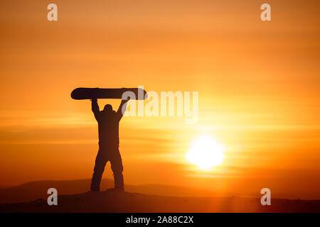
POLYGON ((101 150, 98 151, 97 157, 95 158, 95 168, 93 169, 93 175, 91 180, 91 192, 100 191, 100 182, 102 178, 103 171, 105 170, 105 165, 107 163, 107 158, 102 155, 101 150))

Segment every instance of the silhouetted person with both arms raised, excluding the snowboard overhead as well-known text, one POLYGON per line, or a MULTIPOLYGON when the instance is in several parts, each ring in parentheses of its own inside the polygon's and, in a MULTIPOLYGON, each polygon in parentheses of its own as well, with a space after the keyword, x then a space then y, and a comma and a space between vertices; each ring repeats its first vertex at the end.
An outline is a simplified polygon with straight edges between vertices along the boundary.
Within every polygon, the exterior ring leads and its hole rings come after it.
POLYGON ((110 104, 105 105, 103 111, 99 110, 97 99, 92 99, 92 112, 99 129, 99 151, 95 158, 95 169, 91 181, 91 192, 100 191, 100 182, 107 161, 111 163, 114 176, 114 188, 124 190, 122 159, 119 153, 119 121, 127 107, 128 100, 122 100, 118 111, 112 110, 110 104))

